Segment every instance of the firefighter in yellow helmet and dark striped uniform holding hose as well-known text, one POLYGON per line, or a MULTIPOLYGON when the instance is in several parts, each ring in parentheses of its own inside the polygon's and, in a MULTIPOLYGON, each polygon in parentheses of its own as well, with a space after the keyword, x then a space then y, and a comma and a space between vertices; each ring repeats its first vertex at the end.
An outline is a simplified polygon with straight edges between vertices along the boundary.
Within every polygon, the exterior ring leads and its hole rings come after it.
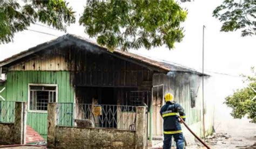
POLYGON ((184 137, 181 131, 179 116, 185 121, 185 112, 180 104, 173 101, 173 95, 167 93, 164 97, 165 105, 161 107, 160 114, 164 119, 164 146, 163 149, 170 149, 172 137, 176 142, 177 149, 184 148, 184 137))

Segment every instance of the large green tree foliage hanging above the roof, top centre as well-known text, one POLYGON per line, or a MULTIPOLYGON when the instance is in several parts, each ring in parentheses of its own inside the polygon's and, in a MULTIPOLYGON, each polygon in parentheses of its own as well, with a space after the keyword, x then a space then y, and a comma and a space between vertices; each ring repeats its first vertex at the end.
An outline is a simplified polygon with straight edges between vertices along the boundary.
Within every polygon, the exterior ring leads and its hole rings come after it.
POLYGON ((180 42, 187 11, 173 0, 88 1, 79 23, 110 51, 116 47, 150 49, 180 42))

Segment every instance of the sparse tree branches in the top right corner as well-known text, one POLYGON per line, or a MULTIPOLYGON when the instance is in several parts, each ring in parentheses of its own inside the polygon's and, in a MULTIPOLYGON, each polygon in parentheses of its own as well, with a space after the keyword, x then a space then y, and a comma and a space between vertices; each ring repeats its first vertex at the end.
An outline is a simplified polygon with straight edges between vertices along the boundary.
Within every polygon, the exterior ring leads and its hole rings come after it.
POLYGON ((223 22, 220 31, 230 32, 242 29, 241 36, 252 36, 256 31, 256 1, 225 0, 213 11, 213 17, 223 22))

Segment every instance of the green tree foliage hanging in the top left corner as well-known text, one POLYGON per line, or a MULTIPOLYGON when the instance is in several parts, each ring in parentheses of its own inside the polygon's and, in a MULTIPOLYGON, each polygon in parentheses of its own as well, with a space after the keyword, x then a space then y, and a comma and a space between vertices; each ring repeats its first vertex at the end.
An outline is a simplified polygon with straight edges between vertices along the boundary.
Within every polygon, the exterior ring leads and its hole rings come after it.
POLYGON ((0 44, 10 42, 16 32, 26 30, 37 21, 65 31, 66 25, 75 23, 75 16, 68 3, 62 0, 33 0, 23 6, 16 1, 1 1, 0 44))

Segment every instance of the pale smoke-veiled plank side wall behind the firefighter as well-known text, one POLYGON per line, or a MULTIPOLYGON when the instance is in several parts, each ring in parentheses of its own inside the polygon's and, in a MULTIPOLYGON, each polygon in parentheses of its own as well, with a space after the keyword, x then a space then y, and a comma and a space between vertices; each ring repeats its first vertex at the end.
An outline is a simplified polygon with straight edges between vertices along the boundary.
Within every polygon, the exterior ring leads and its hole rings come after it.
MULTIPOLYGON (((172 93, 174 95, 174 101, 181 104, 186 113, 186 123, 193 125, 201 122, 201 94, 200 90, 201 81, 200 76, 191 75, 185 73, 174 73, 172 76, 165 74, 153 75, 153 86, 164 85, 164 95, 166 93, 172 93), (194 81, 196 80, 196 81, 194 81), (191 89, 196 88, 196 107, 191 108, 191 89)), ((154 99, 153 99, 154 100, 154 99)), ((156 101, 153 101, 155 103, 156 101)), ((153 107, 157 108, 157 107, 153 107)), ((158 125, 159 127, 160 125, 158 125)), ((160 128, 159 128, 160 129, 160 128)), ((196 132, 200 134, 200 130, 196 132)))

